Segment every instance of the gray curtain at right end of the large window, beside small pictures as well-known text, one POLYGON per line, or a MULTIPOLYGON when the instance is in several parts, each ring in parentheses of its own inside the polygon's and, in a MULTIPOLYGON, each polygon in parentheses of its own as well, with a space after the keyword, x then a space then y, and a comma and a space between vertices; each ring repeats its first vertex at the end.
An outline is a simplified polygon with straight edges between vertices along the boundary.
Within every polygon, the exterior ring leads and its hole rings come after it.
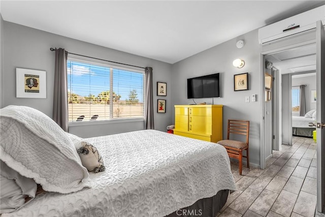
POLYGON ((144 108, 144 129, 154 129, 153 123, 153 97, 152 97, 152 68, 146 67, 145 69, 146 81, 146 102, 144 108))

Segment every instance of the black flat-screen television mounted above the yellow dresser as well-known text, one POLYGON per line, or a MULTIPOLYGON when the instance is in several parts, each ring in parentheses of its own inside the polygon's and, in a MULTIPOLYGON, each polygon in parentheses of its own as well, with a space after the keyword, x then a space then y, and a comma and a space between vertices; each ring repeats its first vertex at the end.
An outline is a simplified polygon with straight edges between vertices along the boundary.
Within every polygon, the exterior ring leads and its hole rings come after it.
POLYGON ((187 99, 221 97, 220 73, 187 79, 187 99))

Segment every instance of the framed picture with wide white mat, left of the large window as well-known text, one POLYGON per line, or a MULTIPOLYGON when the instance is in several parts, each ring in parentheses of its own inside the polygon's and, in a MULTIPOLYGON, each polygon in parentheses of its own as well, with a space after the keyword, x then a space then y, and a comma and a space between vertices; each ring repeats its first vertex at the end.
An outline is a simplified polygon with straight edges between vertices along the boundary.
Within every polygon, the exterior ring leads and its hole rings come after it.
POLYGON ((46 71, 16 68, 17 98, 46 98, 46 71))

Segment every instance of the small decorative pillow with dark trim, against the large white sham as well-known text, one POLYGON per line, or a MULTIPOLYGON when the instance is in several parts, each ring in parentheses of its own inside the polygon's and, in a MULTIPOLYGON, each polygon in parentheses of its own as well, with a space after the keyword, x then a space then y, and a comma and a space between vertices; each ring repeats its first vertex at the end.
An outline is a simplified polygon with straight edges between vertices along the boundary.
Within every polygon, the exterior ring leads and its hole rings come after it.
POLYGON ((67 133, 67 135, 74 143, 82 165, 86 167, 88 171, 94 173, 105 171, 103 158, 95 146, 76 135, 70 133, 67 133))

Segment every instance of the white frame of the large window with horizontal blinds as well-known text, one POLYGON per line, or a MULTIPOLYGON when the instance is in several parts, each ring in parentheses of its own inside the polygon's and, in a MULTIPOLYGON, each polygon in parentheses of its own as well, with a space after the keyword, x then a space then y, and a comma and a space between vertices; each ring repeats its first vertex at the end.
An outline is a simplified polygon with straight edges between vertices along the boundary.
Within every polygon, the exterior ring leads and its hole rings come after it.
MULTIPOLYGON (((89 64, 89 65, 96 65, 100 67, 106 67, 106 68, 113 68, 117 70, 124 70, 124 71, 129 71, 129 72, 135 72, 135 73, 141 73, 143 74, 143 117, 123 117, 123 118, 110 118, 110 119, 104 119, 104 120, 96 120, 96 121, 74 121, 74 120, 69 120, 68 117, 68 122, 69 126, 74 127, 74 126, 87 126, 87 125, 102 125, 102 124, 111 124, 111 123, 123 123, 123 122, 136 122, 136 121, 144 121, 144 115, 145 115, 145 92, 146 92, 146 86, 145 86, 145 69, 139 70, 136 67, 125 67, 122 64, 108 64, 107 61, 105 60, 100 60, 100 59, 93 59, 89 57, 83 57, 75 54, 69 54, 67 61, 75 61, 77 63, 83 63, 83 64, 89 64)), ((111 70, 113 71, 113 70, 111 70)), ((114 88, 112 85, 112 78, 113 75, 110 75, 110 90, 111 87, 114 88)), ((68 78, 68 72, 67 72, 67 78, 68 78)), ((69 83, 70 81, 67 80, 69 83)), ((68 89, 68 83, 67 83, 67 94, 70 89, 68 89)), ((113 103, 111 101, 111 103, 113 103)), ((68 104, 69 106, 69 104, 68 104)), ((111 114, 110 114, 111 115, 111 114)))

